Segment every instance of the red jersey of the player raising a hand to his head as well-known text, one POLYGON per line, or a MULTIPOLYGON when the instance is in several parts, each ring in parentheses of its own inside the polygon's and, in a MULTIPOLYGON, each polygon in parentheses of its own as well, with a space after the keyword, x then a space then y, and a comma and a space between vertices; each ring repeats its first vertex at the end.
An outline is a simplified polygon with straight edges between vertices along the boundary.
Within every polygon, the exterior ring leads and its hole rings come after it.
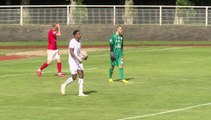
POLYGON ((56 50, 56 31, 50 29, 48 32, 48 49, 49 50, 56 50))

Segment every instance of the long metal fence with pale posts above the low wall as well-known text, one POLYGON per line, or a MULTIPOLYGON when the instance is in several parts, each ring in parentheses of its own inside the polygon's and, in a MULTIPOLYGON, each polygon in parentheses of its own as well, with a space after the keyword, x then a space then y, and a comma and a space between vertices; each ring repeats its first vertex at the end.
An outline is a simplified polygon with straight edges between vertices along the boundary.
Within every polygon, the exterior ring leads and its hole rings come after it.
POLYGON ((211 6, 0 6, 0 24, 211 25, 211 6))

